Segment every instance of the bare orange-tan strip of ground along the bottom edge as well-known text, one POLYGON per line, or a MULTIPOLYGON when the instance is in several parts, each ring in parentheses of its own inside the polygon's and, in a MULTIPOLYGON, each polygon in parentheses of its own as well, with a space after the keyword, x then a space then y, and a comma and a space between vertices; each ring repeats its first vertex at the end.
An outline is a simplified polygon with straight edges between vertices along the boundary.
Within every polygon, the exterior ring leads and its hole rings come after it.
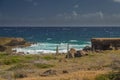
POLYGON ((76 71, 50 77, 29 77, 18 80, 94 80, 96 75, 104 74, 106 71, 76 71))

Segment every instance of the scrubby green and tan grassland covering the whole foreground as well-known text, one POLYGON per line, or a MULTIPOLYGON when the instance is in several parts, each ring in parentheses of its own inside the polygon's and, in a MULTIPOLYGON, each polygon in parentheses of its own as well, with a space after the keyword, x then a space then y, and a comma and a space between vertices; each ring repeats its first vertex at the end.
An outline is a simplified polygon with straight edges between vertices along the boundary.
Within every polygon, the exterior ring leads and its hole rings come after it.
POLYGON ((117 80, 120 78, 120 50, 89 52, 88 56, 65 59, 65 55, 9 55, 0 53, 0 80, 117 80), (40 77, 46 70, 56 75, 40 77), (63 71, 68 71, 64 74, 63 71))

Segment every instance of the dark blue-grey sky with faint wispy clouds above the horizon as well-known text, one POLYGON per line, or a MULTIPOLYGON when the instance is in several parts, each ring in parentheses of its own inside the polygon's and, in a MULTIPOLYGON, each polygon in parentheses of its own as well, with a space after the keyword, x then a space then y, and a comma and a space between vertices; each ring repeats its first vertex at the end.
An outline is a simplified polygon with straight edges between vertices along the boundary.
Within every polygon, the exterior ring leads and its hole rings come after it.
POLYGON ((120 25, 120 0, 0 0, 0 25, 120 25))

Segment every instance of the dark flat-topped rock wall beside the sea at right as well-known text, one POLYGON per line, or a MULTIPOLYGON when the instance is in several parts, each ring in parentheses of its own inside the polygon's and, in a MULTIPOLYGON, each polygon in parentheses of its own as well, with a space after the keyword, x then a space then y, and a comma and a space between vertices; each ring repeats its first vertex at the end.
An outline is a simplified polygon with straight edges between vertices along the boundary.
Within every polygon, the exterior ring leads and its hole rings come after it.
POLYGON ((91 42, 93 50, 120 49, 120 38, 93 38, 91 42))

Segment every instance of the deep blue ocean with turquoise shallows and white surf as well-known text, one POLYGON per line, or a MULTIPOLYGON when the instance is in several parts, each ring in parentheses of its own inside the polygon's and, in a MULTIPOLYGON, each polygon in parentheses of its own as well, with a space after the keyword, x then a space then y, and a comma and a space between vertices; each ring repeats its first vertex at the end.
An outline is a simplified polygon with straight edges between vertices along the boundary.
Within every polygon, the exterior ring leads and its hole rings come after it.
POLYGON ((0 37, 22 37, 35 44, 14 48, 24 53, 67 52, 67 44, 77 50, 91 46, 91 38, 120 38, 120 27, 0 27, 0 37))

